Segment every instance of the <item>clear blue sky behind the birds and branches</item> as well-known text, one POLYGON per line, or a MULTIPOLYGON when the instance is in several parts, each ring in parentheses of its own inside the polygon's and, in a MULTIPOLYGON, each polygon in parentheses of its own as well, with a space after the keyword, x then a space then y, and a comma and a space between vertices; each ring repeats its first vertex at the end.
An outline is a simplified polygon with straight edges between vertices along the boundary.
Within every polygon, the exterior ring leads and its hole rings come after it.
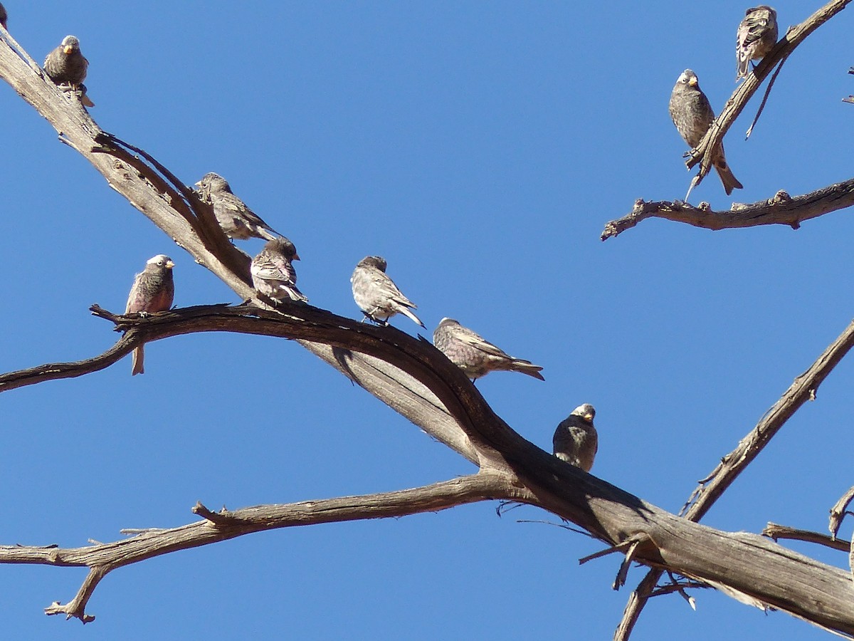
MULTIPOLYGON (((296 244, 301 290, 359 317, 349 275, 367 254, 430 328, 452 316, 546 382, 478 383, 548 448, 594 403, 594 473, 677 510, 854 313, 851 235, 838 212, 708 232, 646 221, 601 243, 637 197, 682 197, 685 145, 667 114, 693 68, 716 110, 734 89, 745 3, 17 3, 9 28, 38 61, 61 38, 90 60, 92 115, 188 184, 222 173, 296 244), (588 6, 589 5, 589 6, 588 6)), ((818 2, 778 2, 781 31, 818 2)), ((787 62, 752 139, 727 138, 740 202, 851 177, 851 11, 787 62)), ((0 87, 0 369, 71 361, 116 335, 133 274, 167 253, 178 305, 237 302, 0 87)), ((732 202, 716 176, 694 202, 732 202)), ((251 253, 260 241, 242 244, 251 253)), ((394 321, 407 332, 407 319, 394 321)), ((388 491, 471 473, 453 452, 296 344, 207 334, 82 379, 0 396, 0 543, 85 545, 123 527, 216 509, 388 491)), ((854 362, 790 421, 704 521, 823 531, 851 485, 854 362)), ((85 571, 0 567, 7 638, 611 638, 629 585, 601 545, 484 503, 437 515, 245 537, 108 575, 91 626, 42 609, 85 571)), ((851 535, 851 524, 840 532, 851 535)), ((846 567, 845 556, 798 547, 846 567)), ((636 641, 826 638, 712 591, 656 599, 636 641)))

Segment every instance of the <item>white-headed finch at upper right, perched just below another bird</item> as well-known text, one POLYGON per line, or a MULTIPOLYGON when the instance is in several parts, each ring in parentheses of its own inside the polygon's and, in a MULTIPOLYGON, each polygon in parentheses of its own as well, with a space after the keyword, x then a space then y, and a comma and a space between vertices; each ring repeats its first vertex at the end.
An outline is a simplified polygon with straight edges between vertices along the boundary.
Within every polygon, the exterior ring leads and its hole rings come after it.
MULTIPOLYGON (((676 125, 676 131, 692 149, 699 144, 711 123, 715 121, 715 112, 711 109, 709 98, 705 97, 705 93, 699 88, 697 74, 694 74, 691 69, 683 71, 676 80, 676 86, 670 94, 670 118, 676 125)), ((721 177, 727 196, 734 189, 741 189, 744 186, 729 169, 727 159, 723 156, 722 143, 715 150, 712 163, 717 170, 717 175, 721 177)), ((690 194, 691 190, 688 190, 688 193, 690 194)), ((685 198, 687 200, 687 196, 685 198)))

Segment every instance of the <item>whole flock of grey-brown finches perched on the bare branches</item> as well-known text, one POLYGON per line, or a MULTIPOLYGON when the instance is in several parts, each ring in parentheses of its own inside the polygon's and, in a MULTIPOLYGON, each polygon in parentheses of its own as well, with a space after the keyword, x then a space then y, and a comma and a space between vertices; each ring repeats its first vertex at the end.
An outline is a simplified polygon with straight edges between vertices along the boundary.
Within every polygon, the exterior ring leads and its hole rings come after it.
MULTIPOLYGON (((0 25, 6 28, 6 9, 0 4, 0 25)), ((745 19, 738 28, 736 80, 746 78, 749 63, 767 55, 777 42, 776 12, 768 6, 747 9, 745 19)), ((85 85, 89 62, 80 53, 79 40, 66 36, 44 60, 44 72, 56 85, 67 85, 78 92, 86 106, 93 106, 86 96, 85 85)), ((670 95, 670 117, 687 144, 696 147, 715 120, 709 99, 700 91, 697 74, 686 69, 676 81, 670 95)), ((723 188, 729 194, 741 188, 723 156, 723 146, 714 156, 714 166, 721 177, 723 188)), ((296 287, 294 261, 300 260, 296 248, 288 238, 275 232, 252 209, 231 192, 228 182, 216 173, 207 173, 196 183, 202 200, 213 207, 213 214, 223 232, 231 239, 263 238, 267 241, 258 256, 252 259, 252 283, 256 291, 275 302, 307 303, 308 299, 296 287)), ((154 256, 133 280, 127 297, 126 314, 150 314, 172 307, 175 286, 169 256, 154 256)), ((396 314, 408 316, 424 327, 412 312, 415 303, 403 295, 394 281, 385 273, 386 262, 380 256, 366 256, 357 265, 350 278, 355 303, 365 319, 387 326, 396 314)), ((454 365, 465 372, 472 381, 495 371, 505 370, 526 373, 544 380, 541 367, 532 362, 509 356, 494 344, 471 329, 450 318, 443 318, 433 332, 433 344, 454 365)), ((143 346, 133 352, 133 373, 143 373, 143 346)), ((561 421, 554 432, 554 455, 577 468, 589 472, 598 449, 598 436, 593 425, 596 410, 585 403, 568 418, 561 421)))

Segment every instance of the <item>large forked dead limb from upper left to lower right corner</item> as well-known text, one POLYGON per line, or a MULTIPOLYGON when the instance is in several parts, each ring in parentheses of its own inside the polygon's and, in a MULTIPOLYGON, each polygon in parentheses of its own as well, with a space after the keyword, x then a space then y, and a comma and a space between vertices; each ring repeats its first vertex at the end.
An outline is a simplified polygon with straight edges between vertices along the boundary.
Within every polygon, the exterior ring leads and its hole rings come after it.
MULTIPOLYGON (((443 442, 480 466, 480 473, 463 481, 471 483, 470 494, 464 491, 460 495, 459 488, 447 485, 452 481, 430 486, 439 488, 435 491, 436 503, 422 506, 424 509, 442 509, 485 498, 529 503, 571 520, 605 544, 630 542, 631 558, 636 562, 715 585, 736 597, 746 595, 817 625, 854 633, 849 573, 755 534, 699 526, 560 461, 507 426, 447 358, 426 342, 393 327, 360 325, 310 306, 266 309, 266 303, 254 297, 249 286, 249 257, 222 242, 206 203, 182 186, 153 156, 102 132, 79 105, 78 97, 58 90, 28 56, 15 53, 8 46, 14 41, 7 34, 0 32, 0 39, 4 43, 0 45, 0 77, 44 115, 61 133, 62 141, 91 162, 110 186, 238 296, 257 305, 173 310, 145 319, 112 315, 111 320, 119 323, 117 327, 126 331, 123 340, 127 342, 120 341, 120 349, 129 349, 132 341, 224 329, 298 339, 384 403, 436 438, 444 438, 443 442)), ((109 317, 106 312, 104 315, 109 317)), ((42 375, 50 373, 43 371, 42 375)), ((348 499, 333 499, 344 502, 340 509, 331 503, 308 502, 213 513, 199 506, 196 511, 206 519, 188 526, 146 529, 131 539, 79 549, 7 546, 0 548, 0 562, 90 567, 89 576, 72 602, 65 606, 57 603, 48 609, 50 614, 86 620, 85 604, 91 592, 102 576, 120 567, 118 564, 184 549, 182 544, 196 547, 269 529, 274 522, 287 526, 410 514, 407 510, 417 507, 416 497, 404 496, 406 492, 413 491, 379 495, 378 503, 370 505, 366 505, 366 497, 356 497, 350 503, 348 499)))

